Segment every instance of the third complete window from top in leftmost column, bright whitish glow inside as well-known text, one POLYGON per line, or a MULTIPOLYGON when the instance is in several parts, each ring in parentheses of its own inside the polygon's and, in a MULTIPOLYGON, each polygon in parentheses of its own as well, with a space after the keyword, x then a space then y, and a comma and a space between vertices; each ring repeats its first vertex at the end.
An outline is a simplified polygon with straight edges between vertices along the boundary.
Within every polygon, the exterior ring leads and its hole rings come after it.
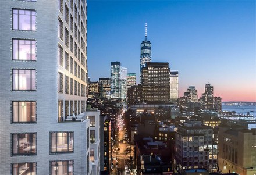
POLYGON ((34 69, 12 69, 12 90, 35 90, 34 69))

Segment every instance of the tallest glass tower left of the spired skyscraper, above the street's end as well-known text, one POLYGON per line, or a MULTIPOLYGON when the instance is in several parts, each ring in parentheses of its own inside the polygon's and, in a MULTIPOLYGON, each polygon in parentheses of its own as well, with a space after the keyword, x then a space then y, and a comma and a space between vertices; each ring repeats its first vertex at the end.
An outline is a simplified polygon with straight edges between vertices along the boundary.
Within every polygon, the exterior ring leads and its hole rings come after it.
POLYGON ((111 62, 111 98, 120 98, 121 63, 111 62))

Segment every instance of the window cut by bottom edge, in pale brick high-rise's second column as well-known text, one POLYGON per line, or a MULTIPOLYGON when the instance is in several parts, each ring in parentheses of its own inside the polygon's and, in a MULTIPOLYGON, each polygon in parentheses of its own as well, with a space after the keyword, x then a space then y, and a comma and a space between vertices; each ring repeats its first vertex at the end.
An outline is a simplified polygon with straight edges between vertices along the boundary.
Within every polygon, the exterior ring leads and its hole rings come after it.
POLYGON ((51 162, 51 175, 73 175, 73 173, 73 160, 51 162))

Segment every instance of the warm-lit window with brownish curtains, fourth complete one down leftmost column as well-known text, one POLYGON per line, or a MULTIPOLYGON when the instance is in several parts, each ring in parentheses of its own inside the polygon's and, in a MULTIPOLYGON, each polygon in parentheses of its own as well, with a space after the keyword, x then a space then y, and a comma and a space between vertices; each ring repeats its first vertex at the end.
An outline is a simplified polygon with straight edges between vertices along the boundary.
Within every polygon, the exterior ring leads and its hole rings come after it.
POLYGON ((12 122, 35 122, 36 102, 12 102, 12 122))

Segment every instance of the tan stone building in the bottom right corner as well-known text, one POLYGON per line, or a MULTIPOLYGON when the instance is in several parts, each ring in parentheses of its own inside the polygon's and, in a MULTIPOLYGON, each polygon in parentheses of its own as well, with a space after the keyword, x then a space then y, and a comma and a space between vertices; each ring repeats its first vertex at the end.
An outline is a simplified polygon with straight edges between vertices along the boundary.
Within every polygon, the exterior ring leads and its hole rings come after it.
POLYGON ((218 164, 222 173, 256 174, 256 129, 219 126, 218 164))

